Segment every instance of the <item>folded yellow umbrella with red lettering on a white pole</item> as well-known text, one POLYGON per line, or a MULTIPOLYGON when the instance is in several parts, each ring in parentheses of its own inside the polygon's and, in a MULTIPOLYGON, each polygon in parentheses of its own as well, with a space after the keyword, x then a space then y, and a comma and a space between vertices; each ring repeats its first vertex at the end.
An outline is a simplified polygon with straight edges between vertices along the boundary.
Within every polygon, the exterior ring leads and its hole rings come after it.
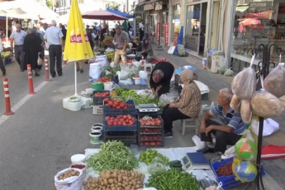
MULTIPOLYGON (((64 61, 84 61, 93 58, 87 31, 84 28, 82 15, 77 0, 72 0, 66 33, 64 61)), ((77 75, 75 64, 75 95, 77 95, 77 75)))

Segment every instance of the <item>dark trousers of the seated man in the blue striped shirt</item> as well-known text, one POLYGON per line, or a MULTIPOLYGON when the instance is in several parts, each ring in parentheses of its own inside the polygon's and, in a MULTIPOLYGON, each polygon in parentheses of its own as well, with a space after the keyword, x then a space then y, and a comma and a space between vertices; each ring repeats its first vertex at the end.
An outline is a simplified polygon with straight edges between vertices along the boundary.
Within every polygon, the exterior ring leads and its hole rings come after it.
MULTIPOLYGON (((215 122, 213 120, 207 120, 205 122, 206 127, 209 127, 210 125, 220 125, 220 123, 215 122)), ((215 152, 221 152, 224 153, 224 151, 227 150, 227 145, 234 145, 236 144, 239 139, 241 139, 241 135, 234 134, 233 132, 227 133, 217 130, 211 130, 208 133, 208 136, 206 136, 205 133, 201 133, 201 141, 205 142, 213 142, 213 139, 211 137, 211 133, 215 135, 216 137, 216 143, 215 143, 215 152)))

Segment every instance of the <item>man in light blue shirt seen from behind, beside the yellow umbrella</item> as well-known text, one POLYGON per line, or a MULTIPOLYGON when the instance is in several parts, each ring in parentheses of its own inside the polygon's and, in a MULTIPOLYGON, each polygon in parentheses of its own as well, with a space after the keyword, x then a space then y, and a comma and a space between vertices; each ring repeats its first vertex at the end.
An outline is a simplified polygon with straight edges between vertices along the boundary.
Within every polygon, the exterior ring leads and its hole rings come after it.
POLYGON ((51 77, 56 77, 56 71, 58 76, 63 75, 62 61, 64 46, 63 46, 63 32, 61 28, 56 27, 56 20, 51 20, 51 27, 46 30, 44 39, 49 46, 49 61, 51 77), (54 70, 56 66, 56 70, 54 70))

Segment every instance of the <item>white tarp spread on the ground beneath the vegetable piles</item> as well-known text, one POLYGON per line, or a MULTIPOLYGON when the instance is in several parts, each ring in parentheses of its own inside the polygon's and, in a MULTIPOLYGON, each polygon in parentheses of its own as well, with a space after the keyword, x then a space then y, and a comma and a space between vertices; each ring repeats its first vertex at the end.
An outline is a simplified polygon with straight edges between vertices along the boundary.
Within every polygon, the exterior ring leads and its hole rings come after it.
MULTIPOLYGON (((182 160, 182 158, 186 155, 186 153, 194 153, 198 150, 196 146, 194 147, 184 147, 184 148, 151 148, 153 150, 158 151, 158 153, 161 153, 163 156, 166 156, 169 158, 170 161, 172 160, 182 160)), ((93 155, 94 153, 99 153, 101 151, 101 148, 87 148, 85 150, 85 156, 88 160, 88 158, 93 155)), ((139 153, 137 154, 137 158, 139 158, 139 153)), ((139 163, 139 169, 137 171, 144 173, 146 175, 146 178, 144 179, 144 184, 148 182, 148 177, 151 175, 147 172, 148 166, 145 163, 139 163)), ((196 176, 198 180, 204 179, 206 176, 208 177, 215 177, 212 170, 193 170, 189 173, 192 173, 196 176)), ((99 177, 99 174, 93 170, 93 168, 89 167, 87 168, 87 178, 89 175, 93 177, 99 177)))

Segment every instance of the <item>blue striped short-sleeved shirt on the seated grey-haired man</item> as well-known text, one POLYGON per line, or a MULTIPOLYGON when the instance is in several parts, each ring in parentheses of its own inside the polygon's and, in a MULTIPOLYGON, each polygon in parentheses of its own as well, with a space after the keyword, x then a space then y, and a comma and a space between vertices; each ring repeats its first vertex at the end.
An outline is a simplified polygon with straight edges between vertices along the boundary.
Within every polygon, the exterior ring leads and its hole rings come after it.
POLYGON ((220 115, 220 120, 223 125, 228 125, 234 128, 234 134, 243 134, 246 130, 246 125, 241 120, 240 113, 234 113, 232 108, 229 109, 227 115, 224 115, 224 107, 217 105, 211 108, 211 113, 213 115, 220 115))

